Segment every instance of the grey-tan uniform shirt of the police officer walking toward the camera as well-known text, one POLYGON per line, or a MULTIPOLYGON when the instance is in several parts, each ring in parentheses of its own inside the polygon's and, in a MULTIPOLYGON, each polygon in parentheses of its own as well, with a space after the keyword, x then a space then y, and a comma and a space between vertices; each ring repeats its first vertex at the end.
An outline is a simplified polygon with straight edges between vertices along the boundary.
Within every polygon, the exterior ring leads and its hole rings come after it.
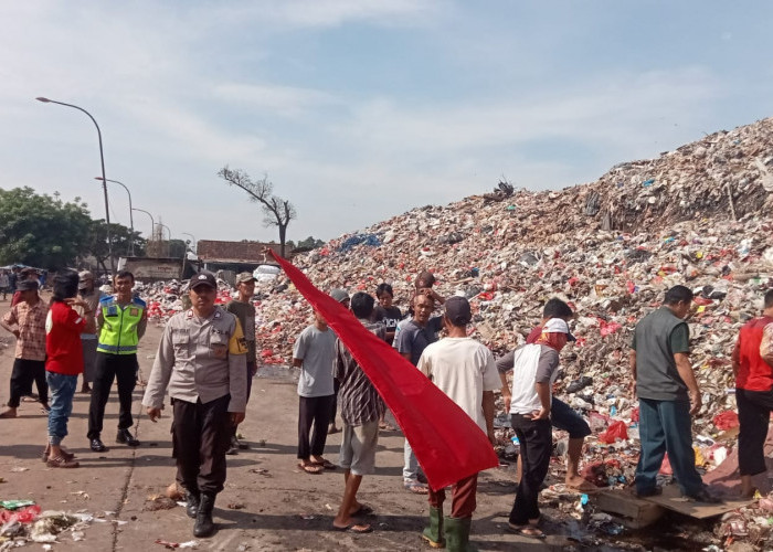
POLYGON ((247 403, 246 342, 234 315, 215 306, 199 320, 193 309, 171 317, 158 346, 142 404, 160 408, 165 392, 189 403, 209 403, 231 394, 229 412, 247 403))

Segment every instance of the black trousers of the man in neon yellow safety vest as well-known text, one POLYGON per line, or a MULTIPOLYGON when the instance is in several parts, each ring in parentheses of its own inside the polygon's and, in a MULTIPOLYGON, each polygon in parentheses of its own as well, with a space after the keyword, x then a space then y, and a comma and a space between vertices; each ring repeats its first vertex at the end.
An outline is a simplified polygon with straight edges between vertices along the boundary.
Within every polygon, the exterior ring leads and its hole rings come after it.
POLYGON ((118 380, 118 429, 128 429, 131 420, 131 393, 137 384, 136 354, 107 354, 97 351, 92 384, 92 402, 88 405, 88 438, 98 439, 105 420, 105 405, 110 396, 113 380, 118 380))

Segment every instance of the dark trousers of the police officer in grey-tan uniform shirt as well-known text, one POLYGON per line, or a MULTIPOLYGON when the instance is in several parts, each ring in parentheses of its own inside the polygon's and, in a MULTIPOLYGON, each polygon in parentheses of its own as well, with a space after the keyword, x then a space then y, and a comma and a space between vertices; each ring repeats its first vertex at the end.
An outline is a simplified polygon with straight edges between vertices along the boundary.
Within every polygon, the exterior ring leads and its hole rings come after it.
POLYGON ((225 453, 231 445, 231 395, 209 403, 172 399, 172 456, 177 482, 191 492, 216 495, 225 484, 225 453))

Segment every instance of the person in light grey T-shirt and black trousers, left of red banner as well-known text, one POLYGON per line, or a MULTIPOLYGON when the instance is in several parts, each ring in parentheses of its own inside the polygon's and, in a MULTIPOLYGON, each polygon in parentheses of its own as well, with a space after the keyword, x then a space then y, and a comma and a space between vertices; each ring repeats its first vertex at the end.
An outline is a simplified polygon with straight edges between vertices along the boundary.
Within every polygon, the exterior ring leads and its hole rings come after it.
POLYGON ((293 365, 298 376, 298 467, 307 474, 320 474, 335 465, 322 457, 328 424, 336 397, 332 367, 336 335, 322 316, 314 311, 314 323, 300 332, 293 348, 293 365), (311 424, 314 433, 310 434, 311 424))

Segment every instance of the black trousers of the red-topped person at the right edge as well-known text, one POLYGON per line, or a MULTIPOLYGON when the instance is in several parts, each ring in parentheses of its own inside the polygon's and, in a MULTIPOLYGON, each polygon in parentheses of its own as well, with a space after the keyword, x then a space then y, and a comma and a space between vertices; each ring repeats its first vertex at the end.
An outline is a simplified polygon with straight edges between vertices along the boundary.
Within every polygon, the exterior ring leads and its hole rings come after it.
POLYGON ((767 470, 765 439, 773 411, 772 391, 735 389, 738 403, 738 468, 742 476, 755 476, 767 470))

